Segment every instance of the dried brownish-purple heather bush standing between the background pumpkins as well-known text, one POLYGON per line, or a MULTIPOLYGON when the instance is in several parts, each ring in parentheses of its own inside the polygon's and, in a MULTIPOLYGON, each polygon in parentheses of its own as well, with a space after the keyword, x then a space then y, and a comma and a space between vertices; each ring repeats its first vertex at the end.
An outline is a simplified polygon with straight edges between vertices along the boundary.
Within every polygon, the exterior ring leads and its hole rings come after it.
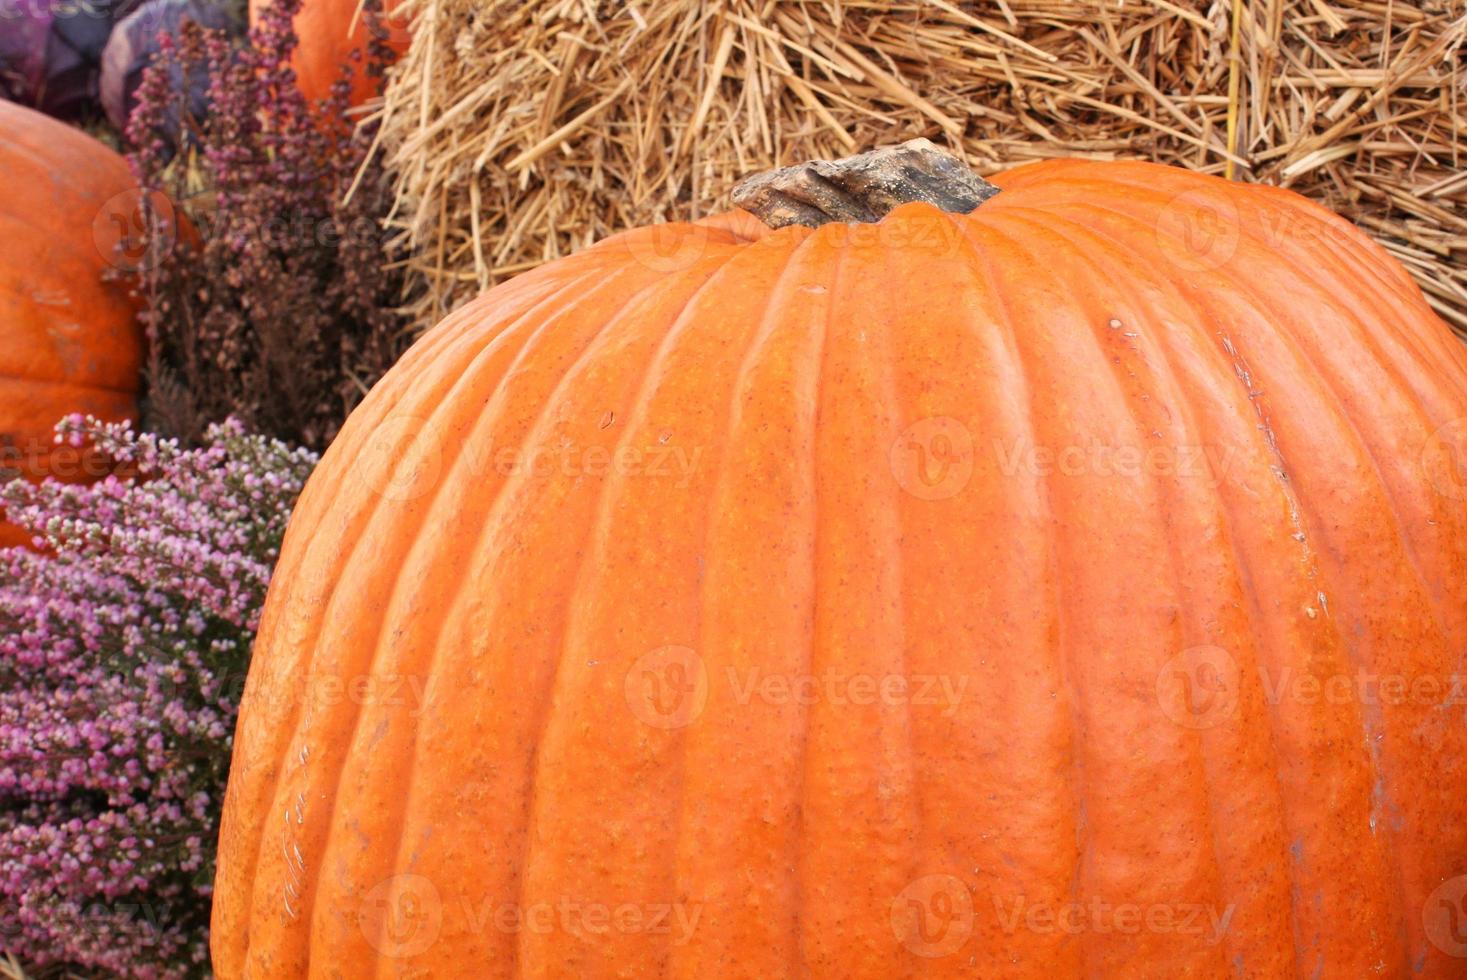
POLYGON ((188 217, 178 235, 154 226, 139 283, 150 427, 185 442, 235 415, 323 449, 409 340, 383 226, 390 188, 364 169, 371 134, 346 122, 352 69, 329 100, 301 95, 298 6, 261 10, 242 51, 185 28, 148 69, 157 78, 128 128, 141 183, 188 217), (160 79, 197 65, 208 113, 173 145, 158 134, 179 131, 182 106, 160 79))

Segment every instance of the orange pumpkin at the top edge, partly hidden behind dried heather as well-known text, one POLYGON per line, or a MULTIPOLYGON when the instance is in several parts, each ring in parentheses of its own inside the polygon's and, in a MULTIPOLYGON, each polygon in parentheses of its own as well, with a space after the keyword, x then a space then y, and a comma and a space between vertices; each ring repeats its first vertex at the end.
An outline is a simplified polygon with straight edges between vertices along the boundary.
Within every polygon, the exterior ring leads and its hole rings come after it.
MULTIPOLYGON (((273 0, 249 0, 251 25, 270 3, 273 0)), ((383 6, 387 10, 381 22, 387 31, 384 41, 396 57, 408 50, 411 34, 402 18, 392 16, 396 1, 386 0, 383 6)), ((359 0, 302 0, 292 22, 298 43, 290 66, 307 98, 330 97, 332 85, 356 50, 362 53, 362 60, 352 63, 351 104, 359 106, 377 95, 377 81, 367 76, 367 22, 358 7, 359 0)))

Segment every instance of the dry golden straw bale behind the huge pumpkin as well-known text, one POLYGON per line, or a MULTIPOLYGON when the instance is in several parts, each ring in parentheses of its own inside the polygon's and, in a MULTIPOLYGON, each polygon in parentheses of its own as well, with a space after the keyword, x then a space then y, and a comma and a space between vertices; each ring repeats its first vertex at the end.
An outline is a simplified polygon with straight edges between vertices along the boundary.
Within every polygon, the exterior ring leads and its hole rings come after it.
POLYGON ((381 107, 421 324, 741 176, 924 135, 1143 157, 1356 220, 1467 333, 1463 0, 406 0, 381 107))

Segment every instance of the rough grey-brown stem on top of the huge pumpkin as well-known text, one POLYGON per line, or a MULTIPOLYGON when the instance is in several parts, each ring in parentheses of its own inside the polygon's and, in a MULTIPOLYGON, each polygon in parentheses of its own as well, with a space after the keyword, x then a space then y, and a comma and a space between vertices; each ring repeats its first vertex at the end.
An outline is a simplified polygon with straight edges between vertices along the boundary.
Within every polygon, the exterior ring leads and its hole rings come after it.
POLYGON ((770 227, 820 227, 826 222, 879 222, 911 201, 967 214, 998 192, 930 139, 908 139, 844 160, 756 173, 734 186, 734 204, 770 227))

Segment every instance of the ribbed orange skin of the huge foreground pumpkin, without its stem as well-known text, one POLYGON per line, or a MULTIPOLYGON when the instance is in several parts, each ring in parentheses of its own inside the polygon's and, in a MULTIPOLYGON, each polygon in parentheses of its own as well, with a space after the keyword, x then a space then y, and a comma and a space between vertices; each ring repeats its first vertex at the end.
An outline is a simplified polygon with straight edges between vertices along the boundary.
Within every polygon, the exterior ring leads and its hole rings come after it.
POLYGON ((628 232, 403 358, 270 590, 220 976, 1464 976, 1467 709, 1298 682, 1463 672, 1467 351, 1292 194, 995 182, 628 232))

